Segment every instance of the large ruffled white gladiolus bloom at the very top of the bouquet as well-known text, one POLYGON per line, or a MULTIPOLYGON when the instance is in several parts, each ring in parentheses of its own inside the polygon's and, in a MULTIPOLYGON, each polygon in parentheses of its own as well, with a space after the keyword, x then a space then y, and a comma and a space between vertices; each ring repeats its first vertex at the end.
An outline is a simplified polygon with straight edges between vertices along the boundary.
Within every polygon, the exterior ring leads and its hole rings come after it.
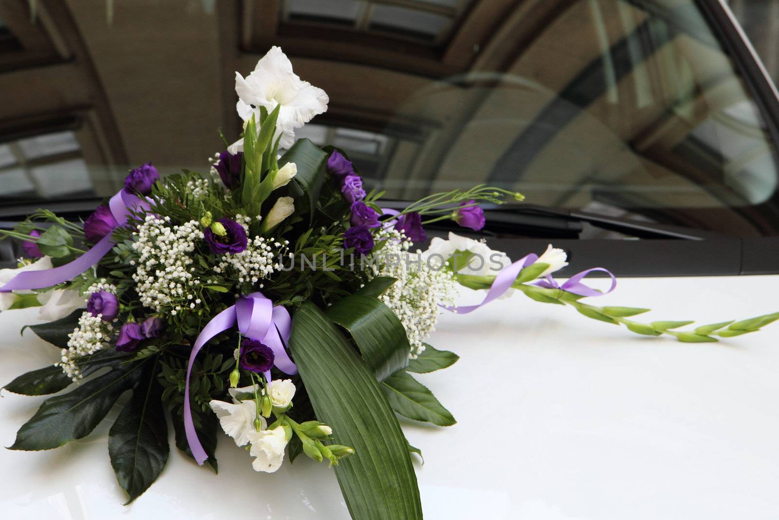
MULTIPOLYGON (((257 66, 245 78, 235 73, 235 92, 250 109, 264 107, 268 112, 277 105, 277 126, 282 132, 280 147, 289 148, 294 143, 294 129, 300 128, 327 110, 330 98, 324 90, 313 87, 292 72, 292 63, 278 47, 273 47, 257 62, 257 66)), ((238 107, 243 119, 245 107, 238 107)), ((249 115, 250 116, 250 115, 249 115)), ((256 118, 259 122, 259 118, 256 118)))

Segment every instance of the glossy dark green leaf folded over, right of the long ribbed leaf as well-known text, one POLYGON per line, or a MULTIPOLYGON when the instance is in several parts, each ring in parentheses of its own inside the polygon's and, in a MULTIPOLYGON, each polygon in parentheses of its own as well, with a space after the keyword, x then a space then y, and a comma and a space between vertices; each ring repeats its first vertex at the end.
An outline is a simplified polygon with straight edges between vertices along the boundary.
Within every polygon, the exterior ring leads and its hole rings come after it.
POLYGON ((390 307, 378 299, 350 295, 328 307, 326 314, 349 331, 379 381, 408 366, 411 345, 406 329, 390 307))

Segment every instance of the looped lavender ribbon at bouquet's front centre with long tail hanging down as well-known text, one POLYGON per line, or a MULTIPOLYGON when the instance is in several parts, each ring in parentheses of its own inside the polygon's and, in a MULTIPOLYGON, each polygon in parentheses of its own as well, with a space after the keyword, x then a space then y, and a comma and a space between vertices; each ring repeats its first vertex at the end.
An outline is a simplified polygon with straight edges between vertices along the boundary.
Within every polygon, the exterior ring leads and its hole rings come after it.
MULTIPOLYGON (((238 322, 238 332, 261 341, 273 350, 273 364, 284 373, 290 375, 298 373, 298 367, 292 362, 284 344, 289 341, 292 331, 292 319, 283 306, 273 306, 273 302, 260 292, 252 292, 248 296, 241 296, 235 305, 227 307, 203 327, 199 336, 192 345, 192 353, 189 354, 189 366, 187 366, 187 381, 184 393, 184 431, 187 436, 189 449, 199 465, 206 462, 206 451, 197 437, 195 423, 192 423, 192 410, 189 409, 189 375, 192 373, 192 365, 195 358, 211 338, 220 332, 227 331, 238 322)), ((270 381, 270 370, 265 373, 270 381)))

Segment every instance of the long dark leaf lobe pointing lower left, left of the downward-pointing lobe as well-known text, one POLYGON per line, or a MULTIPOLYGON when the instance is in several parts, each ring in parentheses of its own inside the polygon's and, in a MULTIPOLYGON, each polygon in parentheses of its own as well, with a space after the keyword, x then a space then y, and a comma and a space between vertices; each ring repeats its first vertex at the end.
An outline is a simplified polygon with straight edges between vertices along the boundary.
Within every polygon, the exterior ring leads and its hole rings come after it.
POLYGON ((86 437, 100 423, 119 396, 139 377, 143 363, 115 369, 77 387, 48 398, 35 415, 16 432, 10 450, 48 450, 86 437))

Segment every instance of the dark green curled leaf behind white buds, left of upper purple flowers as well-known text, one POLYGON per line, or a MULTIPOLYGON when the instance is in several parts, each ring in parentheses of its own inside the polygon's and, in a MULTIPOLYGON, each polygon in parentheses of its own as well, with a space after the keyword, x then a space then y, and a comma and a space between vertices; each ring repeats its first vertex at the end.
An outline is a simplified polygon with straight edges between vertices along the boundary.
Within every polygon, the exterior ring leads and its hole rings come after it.
MULTIPOLYGON (((289 190, 291 196, 296 199, 307 196, 309 222, 314 219, 316 200, 319 199, 319 190, 322 189, 325 176, 327 155, 310 140, 298 139, 279 159, 279 168, 288 162, 294 162, 298 168, 298 174, 290 182, 289 190)), ((298 208, 296 204, 295 209, 301 208, 298 208)))

